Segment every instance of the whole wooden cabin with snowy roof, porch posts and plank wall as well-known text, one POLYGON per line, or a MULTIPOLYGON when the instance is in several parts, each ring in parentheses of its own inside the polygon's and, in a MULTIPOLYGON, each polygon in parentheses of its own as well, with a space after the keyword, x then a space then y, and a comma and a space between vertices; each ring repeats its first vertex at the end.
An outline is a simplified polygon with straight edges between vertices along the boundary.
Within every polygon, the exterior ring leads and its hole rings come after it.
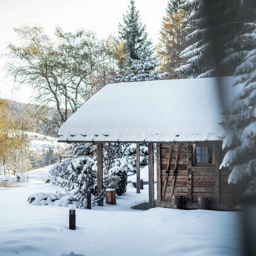
POLYGON ((138 193, 140 143, 148 143, 150 208, 172 208, 174 196, 183 209, 198 209, 199 198, 208 200, 207 209, 233 210, 237 202, 228 184, 230 171, 219 169, 226 134, 222 113, 240 89, 232 84, 232 77, 108 84, 61 126, 58 141, 97 144, 99 189, 102 144, 137 143, 138 193))

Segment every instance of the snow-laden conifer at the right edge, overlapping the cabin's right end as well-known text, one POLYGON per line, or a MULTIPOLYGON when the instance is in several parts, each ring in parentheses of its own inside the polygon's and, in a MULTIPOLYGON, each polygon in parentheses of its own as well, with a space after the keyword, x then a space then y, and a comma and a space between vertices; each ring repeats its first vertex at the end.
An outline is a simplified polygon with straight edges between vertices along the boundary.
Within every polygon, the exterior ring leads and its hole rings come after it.
POLYGON ((232 170, 229 183, 238 184, 244 197, 256 196, 256 23, 245 23, 247 33, 237 36, 240 51, 225 61, 243 58, 235 72, 235 86, 243 89, 233 99, 225 125, 223 148, 229 149, 221 167, 232 170))

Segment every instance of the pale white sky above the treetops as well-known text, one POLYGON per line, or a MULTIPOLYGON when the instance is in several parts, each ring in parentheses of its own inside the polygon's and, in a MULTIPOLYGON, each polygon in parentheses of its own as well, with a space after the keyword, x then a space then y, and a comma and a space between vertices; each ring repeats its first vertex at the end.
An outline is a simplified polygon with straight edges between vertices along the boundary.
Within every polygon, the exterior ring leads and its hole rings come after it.
MULTIPOLYGON (((135 0, 140 17, 157 44, 159 31, 169 0, 135 0)), ((18 43, 14 28, 24 23, 40 24, 53 36, 56 26, 64 31, 85 29, 96 32, 99 38, 109 34, 117 36, 118 24, 128 9, 130 0, 0 0, 0 55, 6 51, 8 42, 18 43)), ((0 98, 29 102, 33 94, 26 86, 13 90, 14 83, 6 77, 5 59, 0 58, 0 98)))

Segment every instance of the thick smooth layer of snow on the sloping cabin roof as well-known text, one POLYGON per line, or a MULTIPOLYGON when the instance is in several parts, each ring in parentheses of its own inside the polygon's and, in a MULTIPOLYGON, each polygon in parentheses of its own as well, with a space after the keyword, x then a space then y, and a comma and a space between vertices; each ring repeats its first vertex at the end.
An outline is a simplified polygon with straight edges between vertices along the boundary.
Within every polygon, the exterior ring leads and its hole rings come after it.
POLYGON ((221 140, 221 103, 238 92, 233 77, 108 84, 59 129, 60 142, 221 140))

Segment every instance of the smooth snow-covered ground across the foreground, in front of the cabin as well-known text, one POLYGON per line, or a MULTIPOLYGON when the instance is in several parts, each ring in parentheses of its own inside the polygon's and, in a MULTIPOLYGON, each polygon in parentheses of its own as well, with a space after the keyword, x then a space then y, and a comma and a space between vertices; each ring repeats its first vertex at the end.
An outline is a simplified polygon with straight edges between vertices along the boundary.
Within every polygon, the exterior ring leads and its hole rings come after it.
POLYGON ((35 192, 61 190, 51 184, 0 189, 0 255, 60 256, 236 256, 239 212, 154 208, 133 211, 148 199, 128 184, 116 205, 76 210, 76 230, 68 229, 68 208, 28 204, 35 192))

